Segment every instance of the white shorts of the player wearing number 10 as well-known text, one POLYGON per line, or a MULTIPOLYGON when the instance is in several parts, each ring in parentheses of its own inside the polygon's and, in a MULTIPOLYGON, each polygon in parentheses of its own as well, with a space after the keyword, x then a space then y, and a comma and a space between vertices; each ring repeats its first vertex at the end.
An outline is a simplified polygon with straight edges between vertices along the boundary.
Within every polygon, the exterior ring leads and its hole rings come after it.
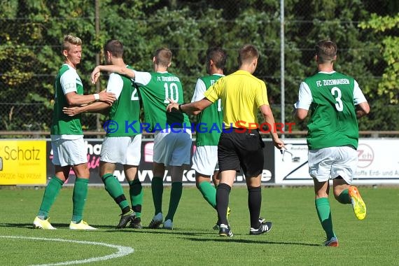
POLYGON ((175 129, 175 132, 155 132, 154 162, 164 164, 165 167, 190 165, 191 131, 175 129))

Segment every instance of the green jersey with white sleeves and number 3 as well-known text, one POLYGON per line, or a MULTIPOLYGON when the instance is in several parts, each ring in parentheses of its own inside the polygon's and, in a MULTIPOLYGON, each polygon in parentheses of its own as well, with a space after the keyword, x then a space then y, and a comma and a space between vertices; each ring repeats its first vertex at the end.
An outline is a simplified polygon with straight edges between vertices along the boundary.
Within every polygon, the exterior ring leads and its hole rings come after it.
POLYGON ((309 149, 358 148, 355 105, 367 102, 356 80, 335 71, 318 72, 300 85, 297 109, 311 111, 307 124, 309 149))

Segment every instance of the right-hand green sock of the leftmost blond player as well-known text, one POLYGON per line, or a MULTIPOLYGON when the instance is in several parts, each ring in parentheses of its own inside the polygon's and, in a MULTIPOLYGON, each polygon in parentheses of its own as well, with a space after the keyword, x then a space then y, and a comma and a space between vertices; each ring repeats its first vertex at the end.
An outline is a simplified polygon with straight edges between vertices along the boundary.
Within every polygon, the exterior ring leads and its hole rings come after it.
POLYGON ((83 209, 85 208, 87 188, 89 179, 79 179, 76 177, 75 186, 73 186, 73 211, 71 221, 80 223, 83 218, 83 209))

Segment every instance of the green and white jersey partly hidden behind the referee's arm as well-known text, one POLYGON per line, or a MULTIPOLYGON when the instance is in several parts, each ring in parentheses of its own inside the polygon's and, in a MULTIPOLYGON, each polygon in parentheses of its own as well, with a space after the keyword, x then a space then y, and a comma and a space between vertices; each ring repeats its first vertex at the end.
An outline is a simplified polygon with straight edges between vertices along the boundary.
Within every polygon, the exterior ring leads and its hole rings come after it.
MULTIPOLYGON (((204 92, 214 85, 216 81, 223 77, 221 74, 213 74, 198 78, 195 85, 195 91, 191 102, 197 102, 204 98, 204 92)), ((197 146, 218 146, 219 138, 223 130, 223 111, 222 101, 218 99, 216 102, 202 110, 197 116, 197 132, 195 135, 195 144, 197 146)))

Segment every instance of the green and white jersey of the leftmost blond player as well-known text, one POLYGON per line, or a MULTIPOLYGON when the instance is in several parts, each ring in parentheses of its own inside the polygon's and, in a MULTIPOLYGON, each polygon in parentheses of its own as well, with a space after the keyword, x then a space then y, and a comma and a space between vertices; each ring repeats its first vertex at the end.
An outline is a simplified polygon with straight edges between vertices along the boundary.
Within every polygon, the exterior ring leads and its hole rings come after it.
POLYGON ((57 135, 61 139, 76 139, 73 136, 83 135, 80 114, 68 116, 62 112, 62 109, 68 107, 65 94, 69 92, 83 94, 82 80, 80 80, 76 69, 73 69, 69 64, 63 64, 55 78, 54 86, 55 103, 50 134, 57 135))

